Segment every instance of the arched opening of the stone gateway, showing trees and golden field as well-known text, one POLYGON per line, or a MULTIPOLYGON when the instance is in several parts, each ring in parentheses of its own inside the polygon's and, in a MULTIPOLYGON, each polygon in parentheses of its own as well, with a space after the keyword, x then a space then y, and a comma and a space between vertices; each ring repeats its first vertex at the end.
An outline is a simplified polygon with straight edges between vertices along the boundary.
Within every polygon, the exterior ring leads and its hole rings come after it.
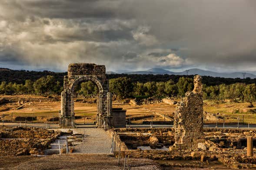
POLYGON ((103 108, 102 93, 102 85, 96 78, 82 77, 73 82, 70 100, 76 124, 98 125, 103 108))

